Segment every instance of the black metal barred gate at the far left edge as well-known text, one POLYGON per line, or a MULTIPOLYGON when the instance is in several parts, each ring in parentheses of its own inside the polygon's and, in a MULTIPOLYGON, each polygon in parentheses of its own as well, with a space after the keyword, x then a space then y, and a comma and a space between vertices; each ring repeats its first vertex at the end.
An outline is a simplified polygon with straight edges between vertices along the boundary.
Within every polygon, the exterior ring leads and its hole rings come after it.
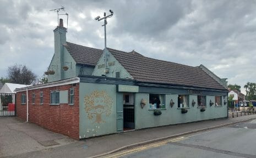
POLYGON ((0 117, 15 116, 15 93, 0 93, 0 117))

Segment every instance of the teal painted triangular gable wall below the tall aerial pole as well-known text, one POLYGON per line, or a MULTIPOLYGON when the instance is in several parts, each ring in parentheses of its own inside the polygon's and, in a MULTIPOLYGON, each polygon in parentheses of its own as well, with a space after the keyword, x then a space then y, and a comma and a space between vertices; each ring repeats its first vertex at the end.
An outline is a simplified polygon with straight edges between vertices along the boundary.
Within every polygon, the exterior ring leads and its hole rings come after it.
MULTIPOLYGON (((120 71, 120 77, 121 78, 132 78, 132 76, 129 74, 129 72, 124 69, 124 67, 116 60, 115 57, 107 50, 108 58, 107 58, 107 65, 109 63, 115 62, 115 65, 108 66, 109 73, 106 74, 107 77, 116 77, 116 72, 120 71)), ((94 76, 101 76, 102 74, 105 75, 105 67, 98 68, 99 65, 105 64, 104 60, 104 53, 102 54, 100 60, 98 61, 97 65, 94 68, 94 71, 92 72, 92 75, 94 76)))

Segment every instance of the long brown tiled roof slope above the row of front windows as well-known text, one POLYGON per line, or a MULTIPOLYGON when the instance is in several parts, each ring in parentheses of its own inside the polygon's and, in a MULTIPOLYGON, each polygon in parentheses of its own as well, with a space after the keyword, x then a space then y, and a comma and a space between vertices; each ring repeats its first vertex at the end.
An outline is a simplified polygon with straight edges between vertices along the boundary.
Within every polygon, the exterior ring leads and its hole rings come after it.
POLYGON ((137 81, 225 89, 199 67, 152 59, 139 53, 108 50, 137 81))

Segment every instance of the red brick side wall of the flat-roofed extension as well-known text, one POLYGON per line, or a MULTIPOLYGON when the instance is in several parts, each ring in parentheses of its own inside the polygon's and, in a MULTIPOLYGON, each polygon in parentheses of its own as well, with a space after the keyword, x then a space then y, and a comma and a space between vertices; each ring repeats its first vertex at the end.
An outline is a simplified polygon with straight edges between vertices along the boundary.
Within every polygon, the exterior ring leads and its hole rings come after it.
MULTIPOLYGON (((26 121, 26 104, 21 105, 21 94, 26 94, 26 91, 17 93, 17 116, 26 121)), ((68 84, 29 90, 29 122, 79 139, 79 83, 75 86, 68 84), (50 91, 68 90, 69 93, 69 88, 74 88, 74 105, 50 105, 50 91), (40 105, 40 92, 43 92, 42 105, 40 105), (35 93, 35 104, 32 104, 32 93, 35 93)))

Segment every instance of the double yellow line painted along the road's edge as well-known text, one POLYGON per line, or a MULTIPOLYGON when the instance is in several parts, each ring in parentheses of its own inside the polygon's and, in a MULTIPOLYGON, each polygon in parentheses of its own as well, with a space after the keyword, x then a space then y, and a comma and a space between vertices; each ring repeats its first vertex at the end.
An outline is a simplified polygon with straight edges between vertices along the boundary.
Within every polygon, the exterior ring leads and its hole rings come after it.
POLYGON ((132 154, 132 153, 137 153, 137 152, 142 151, 142 150, 146 150, 146 149, 150 149, 150 148, 156 148, 158 146, 165 145, 168 142, 177 142, 177 141, 183 140, 183 139, 186 139, 186 138, 185 137, 178 137, 178 138, 171 139, 171 140, 170 139, 165 140, 165 141, 159 142, 159 143, 147 144, 147 145, 140 146, 139 148, 125 150, 125 151, 122 151, 121 153, 110 155, 106 158, 120 157, 120 156, 124 156, 124 155, 128 155, 128 154, 132 154))

